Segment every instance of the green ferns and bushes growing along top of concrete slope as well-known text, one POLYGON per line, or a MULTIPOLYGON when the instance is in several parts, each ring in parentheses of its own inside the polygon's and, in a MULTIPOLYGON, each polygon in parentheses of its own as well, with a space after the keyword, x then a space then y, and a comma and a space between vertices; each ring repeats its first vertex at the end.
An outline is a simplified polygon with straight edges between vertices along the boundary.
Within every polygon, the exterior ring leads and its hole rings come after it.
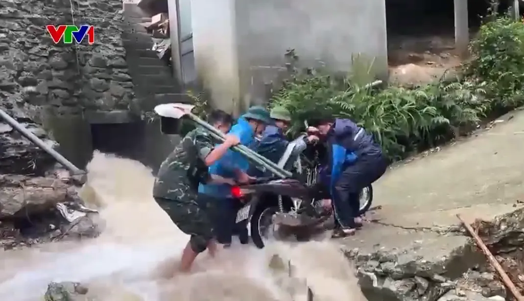
POLYGON ((392 159, 400 159, 471 132, 481 122, 524 104, 522 21, 493 18, 481 27, 470 51, 470 60, 454 80, 377 89, 365 85, 373 81, 373 62, 362 57, 354 58, 352 73, 336 77, 297 68, 298 56, 289 50, 291 76, 270 106, 291 112, 292 134, 319 112, 352 119, 372 132, 392 159))

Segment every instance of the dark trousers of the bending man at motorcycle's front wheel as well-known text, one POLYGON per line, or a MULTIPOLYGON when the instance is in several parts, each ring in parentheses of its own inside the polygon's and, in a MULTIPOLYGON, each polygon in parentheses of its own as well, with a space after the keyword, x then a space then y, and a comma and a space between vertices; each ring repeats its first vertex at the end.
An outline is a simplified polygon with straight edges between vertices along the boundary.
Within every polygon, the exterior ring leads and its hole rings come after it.
POLYGON ((360 210, 360 191, 384 175, 388 165, 384 156, 362 156, 343 168, 331 196, 337 225, 355 227, 360 210))

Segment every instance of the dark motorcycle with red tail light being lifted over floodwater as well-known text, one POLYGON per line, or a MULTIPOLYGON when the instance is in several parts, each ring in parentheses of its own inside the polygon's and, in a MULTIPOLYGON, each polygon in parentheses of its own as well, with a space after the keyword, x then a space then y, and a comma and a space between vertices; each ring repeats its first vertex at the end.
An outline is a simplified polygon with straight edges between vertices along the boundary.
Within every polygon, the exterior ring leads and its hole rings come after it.
MULTIPOLYGON (((299 156, 293 158, 291 155, 297 153, 298 142, 304 137, 302 135, 290 142, 278 162, 279 167, 291 165, 294 171, 292 178, 257 178, 231 189, 232 196, 246 204, 238 210, 236 222, 248 220, 248 230, 257 248, 264 248, 271 236, 280 239, 281 227, 300 239, 298 233, 307 233, 302 229, 316 227, 333 214, 331 210, 322 208, 322 200, 331 199, 326 189, 329 187, 326 168, 320 164, 322 156, 326 155, 325 146, 309 145, 299 149, 299 156)), ((360 198, 359 214, 364 215, 372 205, 373 187, 364 188, 360 198)))

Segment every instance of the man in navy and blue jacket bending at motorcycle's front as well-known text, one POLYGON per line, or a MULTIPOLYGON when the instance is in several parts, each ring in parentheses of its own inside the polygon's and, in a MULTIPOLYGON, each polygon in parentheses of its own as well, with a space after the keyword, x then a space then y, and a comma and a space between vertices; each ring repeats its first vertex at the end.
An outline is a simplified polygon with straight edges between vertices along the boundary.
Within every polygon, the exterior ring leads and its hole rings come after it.
POLYGON ((331 198, 340 226, 334 237, 353 235, 362 226, 359 192, 384 175, 389 161, 373 136, 349 119, 313 120, 308 132, 328 142, 331 198))

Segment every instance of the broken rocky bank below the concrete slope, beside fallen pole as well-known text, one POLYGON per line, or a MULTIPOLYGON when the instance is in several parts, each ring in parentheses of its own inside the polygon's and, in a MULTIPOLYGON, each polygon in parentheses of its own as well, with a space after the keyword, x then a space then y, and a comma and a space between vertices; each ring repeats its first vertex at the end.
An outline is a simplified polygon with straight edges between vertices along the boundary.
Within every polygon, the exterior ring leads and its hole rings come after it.
MULTIPOLYGON (((473 228, 512 282, 524 292, 524 209, 503 214, 492 221, 475 221, 473 228)), ((439 231, 431 234, 428 230, 425 233, 427 241, 415 240, 405 249, 387 249, 379 245, 372 252, 345 249, 346 256, 357 267, 359 285, 366 297, 370 300, 409 301, 510 299, 494 268, 465 232, 457 226, 451 231, 439 231), (423 248, 430 242, 431 235, 441 243, 454 240, 455 248, 428 253, 423 248)), ((417 237, 412 233, 409 235, 417 237)), ((429 248, 432 248, 430 244, 429 248)))

